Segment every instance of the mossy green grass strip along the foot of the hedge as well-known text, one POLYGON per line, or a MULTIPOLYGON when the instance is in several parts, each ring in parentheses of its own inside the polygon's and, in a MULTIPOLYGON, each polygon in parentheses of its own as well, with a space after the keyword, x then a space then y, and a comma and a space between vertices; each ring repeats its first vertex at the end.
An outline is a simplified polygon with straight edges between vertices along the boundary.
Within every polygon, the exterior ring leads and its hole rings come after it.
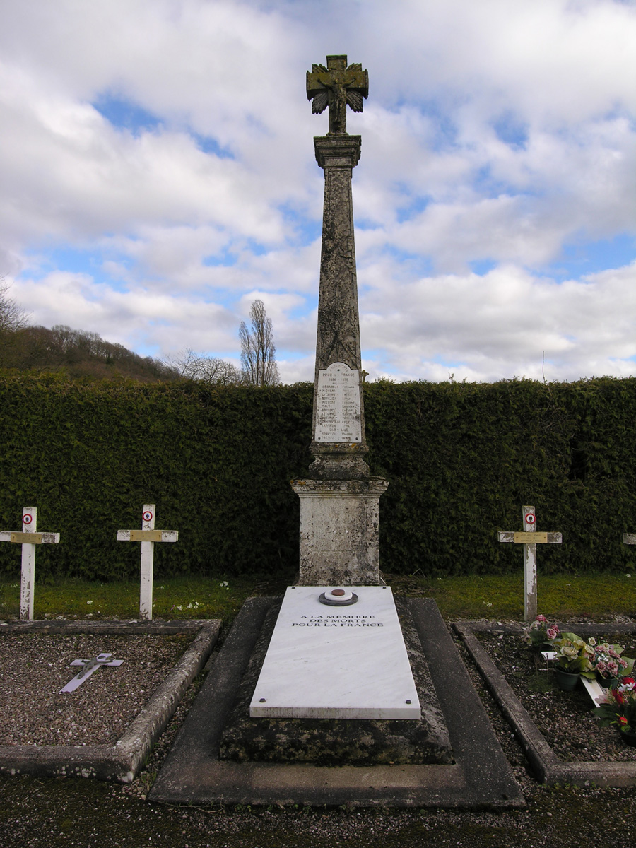
MULTIPOLYGON (((447 620, 458 618, 523 619, 522 574, 422 577, 385 575, 395 594, 433 598, 447 620)), ((153 617, 220 618, 229 624, 254 595, 282 594, 286 581, 248 577, 158 578, 153 617)), ((0 579, 0 620, 17 618, 20 581, 0 579)), ((631 616, 636 610, 636 575, 626 573, 550 574, 538 578, 538 610, 552 618, 631 616)), ((95 583, 78 578, 36 582, 35 617, 124 618, 139 616, 139 584, 95 583)))

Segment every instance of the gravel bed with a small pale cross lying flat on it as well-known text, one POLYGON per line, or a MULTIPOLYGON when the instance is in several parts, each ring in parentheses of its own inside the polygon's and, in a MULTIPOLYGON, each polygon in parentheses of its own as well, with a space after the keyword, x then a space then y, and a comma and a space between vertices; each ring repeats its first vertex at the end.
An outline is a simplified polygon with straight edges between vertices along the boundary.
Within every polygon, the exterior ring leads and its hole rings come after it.
POLYGON ((0 745, 114 745, 176 664, 188 636, 76 633, 0 636, 0 745), (80 671, 75 659, 112 653, 119 667, 80 671))

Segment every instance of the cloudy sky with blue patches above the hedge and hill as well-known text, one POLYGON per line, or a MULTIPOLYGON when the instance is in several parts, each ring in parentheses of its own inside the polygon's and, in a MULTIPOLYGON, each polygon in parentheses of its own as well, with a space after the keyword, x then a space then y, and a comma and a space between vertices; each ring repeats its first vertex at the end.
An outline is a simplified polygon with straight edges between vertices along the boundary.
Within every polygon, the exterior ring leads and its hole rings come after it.
POLYGON ((347 53, 370 378, 631 375, 634 44, 629 0, 9 0, 0 276, 32 323, 235 363, 261 298, 311 379, 305 71, 347 53))

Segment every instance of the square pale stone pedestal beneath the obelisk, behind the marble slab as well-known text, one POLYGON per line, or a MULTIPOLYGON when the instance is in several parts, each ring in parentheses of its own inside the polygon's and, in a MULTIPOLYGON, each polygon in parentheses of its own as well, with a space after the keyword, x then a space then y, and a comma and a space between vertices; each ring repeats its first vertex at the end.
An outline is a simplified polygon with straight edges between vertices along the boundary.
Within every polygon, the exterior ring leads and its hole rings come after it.
POLYGON ((377 586, 378 507, 388 481, 293 480, 300 498, 301 586, 377 586))

